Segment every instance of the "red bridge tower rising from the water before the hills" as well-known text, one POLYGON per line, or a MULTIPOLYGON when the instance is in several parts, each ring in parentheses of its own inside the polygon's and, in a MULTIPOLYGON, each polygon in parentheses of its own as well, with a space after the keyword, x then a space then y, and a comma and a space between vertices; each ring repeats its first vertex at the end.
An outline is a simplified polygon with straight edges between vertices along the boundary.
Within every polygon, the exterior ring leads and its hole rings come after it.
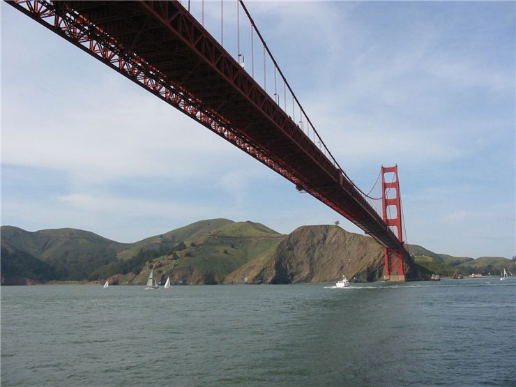
MULTIPOLYGON (((403 245, 400 180, 397 176, 397 165, 394 167, 381 167, 381 190, 384 222, 396 234, 398 241, 403 245), (391 174, 388 181, 386 181, 386 174, 391 174)), ((404 282, 405 268, 402 251, 403 248, 384 248, 384 280, 404 282)))

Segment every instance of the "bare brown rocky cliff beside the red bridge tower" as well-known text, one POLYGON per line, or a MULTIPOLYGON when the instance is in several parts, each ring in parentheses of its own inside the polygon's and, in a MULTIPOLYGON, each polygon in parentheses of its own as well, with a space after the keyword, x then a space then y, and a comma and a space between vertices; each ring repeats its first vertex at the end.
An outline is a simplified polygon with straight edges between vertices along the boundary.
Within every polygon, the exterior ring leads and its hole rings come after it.
MULTIPOLYGON (((418 273, 407 265, 408 277, 418 273)), ((381 280, 384 248, 372 238, 337 226, 303 226, 278 245, 271 257, 259 257, 228 276, 226 282, 288 284, 335 282, 342 275, 351 280, 381 280), (257 268, 261 263, 261 268, 257 268)))

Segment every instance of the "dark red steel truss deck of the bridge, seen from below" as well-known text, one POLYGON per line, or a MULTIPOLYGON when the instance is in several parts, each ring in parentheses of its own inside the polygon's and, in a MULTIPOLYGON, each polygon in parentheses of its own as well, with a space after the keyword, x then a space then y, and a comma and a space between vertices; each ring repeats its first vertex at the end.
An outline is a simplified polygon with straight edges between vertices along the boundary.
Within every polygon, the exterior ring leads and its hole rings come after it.
POLYGON ((402 248, 324 149, 179 2, 10 4, 289 179, 386 248, 402 248))

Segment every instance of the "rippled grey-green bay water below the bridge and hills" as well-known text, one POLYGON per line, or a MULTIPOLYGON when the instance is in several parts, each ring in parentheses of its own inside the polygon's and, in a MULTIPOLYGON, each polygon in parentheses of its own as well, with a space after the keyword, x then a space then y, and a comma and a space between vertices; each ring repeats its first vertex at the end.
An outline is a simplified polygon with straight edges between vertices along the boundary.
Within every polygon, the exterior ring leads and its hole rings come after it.
POLYGON ((2 287, 1 385, 515 386, 515 291, 2 287))

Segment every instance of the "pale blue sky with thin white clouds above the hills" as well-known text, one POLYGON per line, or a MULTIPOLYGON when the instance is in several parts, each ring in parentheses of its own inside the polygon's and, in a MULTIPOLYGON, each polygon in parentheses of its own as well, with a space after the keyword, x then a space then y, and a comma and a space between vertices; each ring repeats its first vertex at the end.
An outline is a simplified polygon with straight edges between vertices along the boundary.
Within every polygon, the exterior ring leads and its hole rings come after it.
MULTIPOLYGON (((367 192, 398 166, 407 243, 516 254, 515 2, 245 3, 354 183, 367 192)), ((224 7, 234 52, 236 3, 224 7)), ((207 2, 218 39, 219 17, 207 2)), ((129 243, 210 218, 363 234, 2 1, 1 224, 129 243)))

